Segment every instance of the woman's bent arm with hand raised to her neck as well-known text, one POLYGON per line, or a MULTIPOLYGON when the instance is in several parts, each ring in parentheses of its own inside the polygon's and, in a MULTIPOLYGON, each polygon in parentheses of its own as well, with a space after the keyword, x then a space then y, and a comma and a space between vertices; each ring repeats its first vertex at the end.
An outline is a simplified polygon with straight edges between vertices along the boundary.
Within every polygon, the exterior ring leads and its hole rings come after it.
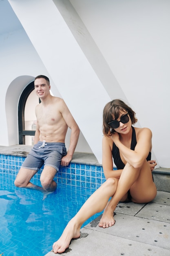
POLYGON ((112 135, 112 139, 116 146, 119 148, 120 153, 123 155, 126 162, 132 165, 134 168, 140 168, 146 160, 150 150, 150 144, 152 139, 152 132, 148 128, 137 128, 136 137, 137 144, 135 150, 131 150, 121 143, 119 134, 115 132, 112 135))

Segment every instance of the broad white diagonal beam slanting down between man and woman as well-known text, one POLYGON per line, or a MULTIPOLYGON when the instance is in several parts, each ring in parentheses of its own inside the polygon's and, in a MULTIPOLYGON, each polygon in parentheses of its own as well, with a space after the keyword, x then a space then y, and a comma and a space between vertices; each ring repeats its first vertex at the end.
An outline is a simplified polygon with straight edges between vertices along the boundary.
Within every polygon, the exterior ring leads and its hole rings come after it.
POLYGON ((102 111, 110 97, 101 81, 52 0, 9 2, 91 150, 102 162, 102 111))

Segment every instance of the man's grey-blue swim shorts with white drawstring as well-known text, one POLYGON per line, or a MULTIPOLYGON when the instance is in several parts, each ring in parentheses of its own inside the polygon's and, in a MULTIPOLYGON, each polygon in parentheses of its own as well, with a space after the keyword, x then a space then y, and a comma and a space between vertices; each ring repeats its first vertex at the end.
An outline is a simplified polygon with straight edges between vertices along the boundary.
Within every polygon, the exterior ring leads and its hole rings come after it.
POLYGON ((52 166, 58 171, 61 159, 66 154, 67 152, 64 143, 38 141, 27 155, 22 167, 39 171, 44 164, 44 166, 52 166))

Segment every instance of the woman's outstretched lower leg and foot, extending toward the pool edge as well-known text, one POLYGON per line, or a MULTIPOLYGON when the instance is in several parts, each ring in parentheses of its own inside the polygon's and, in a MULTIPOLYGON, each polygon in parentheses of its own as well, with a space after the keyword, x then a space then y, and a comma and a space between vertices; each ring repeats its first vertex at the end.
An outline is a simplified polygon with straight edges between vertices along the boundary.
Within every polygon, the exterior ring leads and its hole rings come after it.
MULTIPOLYGON (((117 189, 118 180, 109 178, 97 189, 88 200, 83 204, 81 209, 73 217, 63 231, 62 236, 53 244, 54 253, 62 253, 68 248, 72 238, 80 236, 82 224, 95 213, 102 211, 106 204, 117 189)), ((113 225, 115 221, 113 219, 113 225)))

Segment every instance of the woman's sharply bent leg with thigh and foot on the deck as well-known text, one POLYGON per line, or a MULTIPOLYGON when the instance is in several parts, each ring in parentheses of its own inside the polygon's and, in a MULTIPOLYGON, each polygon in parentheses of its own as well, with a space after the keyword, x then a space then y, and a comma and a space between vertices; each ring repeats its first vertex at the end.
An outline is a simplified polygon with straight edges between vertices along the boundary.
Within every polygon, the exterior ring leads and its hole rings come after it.
POLYGON ((133 202, 150 202, 155 198, 157 189, 152 181, 152 173, 147 162, 144 162, 141 169, 135 169, 130 164, 126 164, 117 184, 117 190, 104 209, 99 227, 110 227, 110 218, 113 216, 117 204, 129 189, 133 202))

